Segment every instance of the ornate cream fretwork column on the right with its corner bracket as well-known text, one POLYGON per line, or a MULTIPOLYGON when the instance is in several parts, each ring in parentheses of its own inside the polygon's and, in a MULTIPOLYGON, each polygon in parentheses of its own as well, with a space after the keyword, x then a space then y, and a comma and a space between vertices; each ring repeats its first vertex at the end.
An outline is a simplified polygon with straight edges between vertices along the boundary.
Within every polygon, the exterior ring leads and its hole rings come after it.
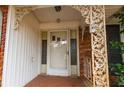
POLYGON ((86 18, 86 23, 90 24, 93 86, 109 86, 104 6, 73 6, 73 8, 80 11, 86 18))

